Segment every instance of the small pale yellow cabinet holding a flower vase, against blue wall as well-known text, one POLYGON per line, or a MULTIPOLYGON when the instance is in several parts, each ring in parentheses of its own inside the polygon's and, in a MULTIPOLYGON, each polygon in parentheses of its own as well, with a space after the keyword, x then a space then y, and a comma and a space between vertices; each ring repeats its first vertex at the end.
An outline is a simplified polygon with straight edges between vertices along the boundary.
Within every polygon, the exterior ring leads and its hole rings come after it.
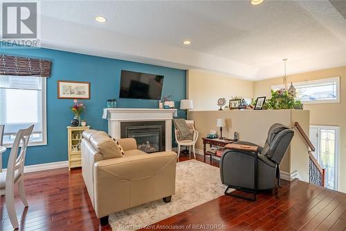
POLYGON ((82 133, 89 130, 90 126, 67 127, 68 150, 69 150, 69 171, 72 168, 82 166, 82 158, 80 151, 80 142, 82 141, 82 133))

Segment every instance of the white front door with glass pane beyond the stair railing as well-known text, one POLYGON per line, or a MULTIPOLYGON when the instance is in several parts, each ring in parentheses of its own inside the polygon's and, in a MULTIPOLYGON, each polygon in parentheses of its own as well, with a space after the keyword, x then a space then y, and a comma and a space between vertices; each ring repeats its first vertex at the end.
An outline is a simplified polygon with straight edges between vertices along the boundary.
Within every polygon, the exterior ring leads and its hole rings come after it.
POLYGON ((339 128, 310 126, 309 138, 316 148, 313 155, 325 169, 325 187, 338 190, 339 128))

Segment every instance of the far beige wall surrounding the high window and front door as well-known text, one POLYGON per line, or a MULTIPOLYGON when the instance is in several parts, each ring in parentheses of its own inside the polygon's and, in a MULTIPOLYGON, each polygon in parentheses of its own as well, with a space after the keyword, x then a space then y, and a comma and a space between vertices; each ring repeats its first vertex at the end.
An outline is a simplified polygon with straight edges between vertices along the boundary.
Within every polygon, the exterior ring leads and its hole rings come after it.
MULTIPOLYGON (((289 82, 304 82, 340 76, 340 103, 305 104, 310 110, 311 125, 327 125, 340 127, 340 174, 339 190, 346 192, 346 67, 336 67, 320 71, 312 71, 289 76, 289 82)), ((282 83, 282 78, 271 78, 256 81, 253 84, 254 97, 271 96, 271 85, 282 83)))

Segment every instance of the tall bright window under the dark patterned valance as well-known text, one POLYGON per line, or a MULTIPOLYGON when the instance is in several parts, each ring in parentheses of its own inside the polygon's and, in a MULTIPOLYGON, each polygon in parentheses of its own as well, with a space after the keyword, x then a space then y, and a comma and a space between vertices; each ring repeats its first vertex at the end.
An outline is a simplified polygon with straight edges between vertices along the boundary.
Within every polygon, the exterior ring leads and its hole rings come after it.
POLYGON ((29 145, 46 144, 46 78, 0 76, 0 124, 10 146, 21 128, 34 124, 29 145))

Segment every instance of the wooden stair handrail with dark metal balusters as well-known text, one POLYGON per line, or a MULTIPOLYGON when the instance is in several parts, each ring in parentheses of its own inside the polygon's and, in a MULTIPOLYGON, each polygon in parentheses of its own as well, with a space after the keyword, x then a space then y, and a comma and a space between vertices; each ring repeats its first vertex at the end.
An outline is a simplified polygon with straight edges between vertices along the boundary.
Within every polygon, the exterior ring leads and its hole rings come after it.
POLYGON ((320 164, 318 164, 316 158, 311 153, 315 151, 315 147, 311 143, 309 137, 307 137, 307 134, 302 129, 302 126, 300 126, 298 122, 295 122, 294 126, 302 136, 305 144, 307 144, 307 146, 309 147, 309 182, 313 185, 325 187, 325 169, 322 169, 320 164))

